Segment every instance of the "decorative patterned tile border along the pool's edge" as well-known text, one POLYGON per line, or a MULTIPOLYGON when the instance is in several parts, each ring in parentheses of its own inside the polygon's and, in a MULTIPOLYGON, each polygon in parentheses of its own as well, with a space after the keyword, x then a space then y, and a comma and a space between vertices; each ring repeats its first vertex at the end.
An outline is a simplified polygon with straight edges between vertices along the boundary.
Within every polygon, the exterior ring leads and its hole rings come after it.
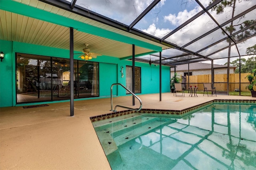
POLYGON ((213 103, 216 104, 236 104, 236 103, 242 103, 242 104, 256 104, 256 100, 240 100, 240 99, 214 99, 212 101, 208 101, 205 103, 201 103, 199 105, 188 107, 186 109, 182 110, 165 110, 165 109, 141 109, 140 111, 132 111, 132 110, 124 110, 124 111, 117 111, 112 113, 106 113, 103 115, 93 116, 90 117, 91 122, 95 121, 101 121, 105 119, 111 119, 114 117, 119 117, 123 115, 130 115, 132 113, 151 113, 151 114, 166 114, 166 115, 183 115, 188 112, 201 109, 202 107, 206 107, 208 105, 211 105, 213 103))

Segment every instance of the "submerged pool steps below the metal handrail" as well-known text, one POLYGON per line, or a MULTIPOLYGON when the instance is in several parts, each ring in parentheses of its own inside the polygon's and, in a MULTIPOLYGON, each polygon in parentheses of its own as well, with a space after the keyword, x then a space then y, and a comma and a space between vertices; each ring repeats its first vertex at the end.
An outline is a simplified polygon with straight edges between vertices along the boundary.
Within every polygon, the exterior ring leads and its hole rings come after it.
POLYGON ((175 119, 156 118, 147 115, 132 116, 126 120, 113 120, 111 123, 108 122, 108 124, 102 125, 93 123, 97 135, 104 136, 104 140, 100 140, 100 143, 103 148, 108 148, 104 149, 105 154, 111 154, 117 150, 117 146, 133 140, 148 131, 176 122, 175 119), (138 128, 142 130, 138 131, 138 128))

